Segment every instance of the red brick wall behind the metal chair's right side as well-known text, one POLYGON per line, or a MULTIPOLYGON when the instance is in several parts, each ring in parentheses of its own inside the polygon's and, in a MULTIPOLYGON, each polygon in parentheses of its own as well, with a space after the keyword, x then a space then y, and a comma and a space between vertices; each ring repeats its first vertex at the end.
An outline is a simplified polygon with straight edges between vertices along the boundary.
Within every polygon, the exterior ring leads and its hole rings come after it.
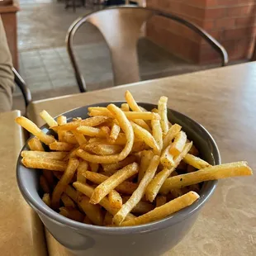
MULTIPOLYGON (((247 59, 252 54, 255 0, 148 0, 147 7, 171 12, 201 26, 225 47, 230 59, 247 59)), ((200 64, 219 59, 200 36, 175 21, 154 17, 147 24, 147 35, 183 59, 200 64)))

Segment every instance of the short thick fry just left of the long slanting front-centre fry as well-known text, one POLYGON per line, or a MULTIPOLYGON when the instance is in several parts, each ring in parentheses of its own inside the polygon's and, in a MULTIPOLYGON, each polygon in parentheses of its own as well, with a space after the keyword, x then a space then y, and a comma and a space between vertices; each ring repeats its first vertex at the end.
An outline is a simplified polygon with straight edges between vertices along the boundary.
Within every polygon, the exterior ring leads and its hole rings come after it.
POLYGON ((138 171, 139 166, 136 163, 129 164, 126 167, 121 168, 94 189, 90 202, 92 204, 97 204, 102 200, 103 197, 106 197, 111 190, 123 183, 127 178, 130 178, 135 173, 138 173, 138 171))

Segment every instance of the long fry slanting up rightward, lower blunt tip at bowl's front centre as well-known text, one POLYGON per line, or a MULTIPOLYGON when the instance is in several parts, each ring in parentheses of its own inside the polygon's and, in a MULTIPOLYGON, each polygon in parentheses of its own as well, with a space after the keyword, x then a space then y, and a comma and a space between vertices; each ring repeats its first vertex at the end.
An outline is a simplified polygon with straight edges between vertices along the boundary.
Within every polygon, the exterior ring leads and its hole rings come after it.
POLYGON ((151 159, 149 168, 146 170, 144 177, 140 181, 138 188, 132 193, 131 197, 125 204, 121 206, 121 209, 113 217, 113 222, 116 225, 121 225, 121 222, 126 219, 126 216, 130 211, 138 204, 141 198, 145 195, 146 187, 149 185, 152 178, 154 178, 154 173, 159 166, 159 156, 154 155, 151 159))

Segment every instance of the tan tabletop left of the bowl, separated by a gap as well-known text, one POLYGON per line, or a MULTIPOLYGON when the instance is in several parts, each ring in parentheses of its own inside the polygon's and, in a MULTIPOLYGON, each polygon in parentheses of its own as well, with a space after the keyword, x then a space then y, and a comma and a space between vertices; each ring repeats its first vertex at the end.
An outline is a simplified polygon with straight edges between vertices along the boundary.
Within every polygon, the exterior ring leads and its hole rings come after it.
POLYGON ((0 255, 45 256, 43 225, 17 187, 17 156, 25 143, 17 116, 20 111, 0 113, 0 255))

